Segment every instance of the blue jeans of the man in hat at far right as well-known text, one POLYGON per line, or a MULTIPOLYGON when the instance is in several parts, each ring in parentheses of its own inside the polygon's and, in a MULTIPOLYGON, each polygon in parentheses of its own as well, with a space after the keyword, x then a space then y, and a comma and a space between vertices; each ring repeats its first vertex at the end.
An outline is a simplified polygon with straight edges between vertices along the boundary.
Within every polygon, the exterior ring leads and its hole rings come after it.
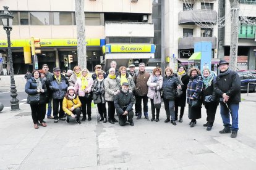
POLYGON ((232 118, 232 125, 230 124, 230 116, 228 107, 225 103, 221 102, 221 118, 223 121, 224 127, 231 127, 232 131, 238 131, 238 110, 239 110, 239 103, 227 103, 229 109, 231 110, 231 118, 232 118))

